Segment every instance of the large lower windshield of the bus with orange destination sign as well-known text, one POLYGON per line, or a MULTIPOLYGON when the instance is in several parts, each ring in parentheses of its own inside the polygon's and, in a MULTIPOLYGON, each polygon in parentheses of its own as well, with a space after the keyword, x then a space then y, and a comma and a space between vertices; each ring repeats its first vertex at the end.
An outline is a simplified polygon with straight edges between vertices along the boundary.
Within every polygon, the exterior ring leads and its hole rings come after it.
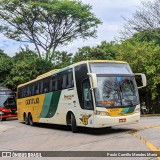
POLYGON ((139 104, 133 76, 98 76, 95 90, 97 107, 127 107, 139 104))

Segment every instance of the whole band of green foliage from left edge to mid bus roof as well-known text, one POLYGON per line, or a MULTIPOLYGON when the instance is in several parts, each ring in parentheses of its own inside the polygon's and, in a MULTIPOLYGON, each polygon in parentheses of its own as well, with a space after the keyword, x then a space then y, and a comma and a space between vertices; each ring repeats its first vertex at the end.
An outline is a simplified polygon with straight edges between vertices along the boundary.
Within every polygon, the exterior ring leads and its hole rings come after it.
POLYGON ((54 53, 54 63, 46 61, 38 57, 35 51, 21 48, 20 52, 12 58, 8 57, 2 51, 0 56, 3 55, 5 59, 0 59, 0 65, 3 62, 3 74, 1 79, 6 81, 9 88, 15 90, 19 84, 28 82, 35 79, 37 76, 44 74, 52 69, 63 68, 71 64, 72 54, 67 52, 54 53), (11 63, 9 65, 9 63, 11 63))

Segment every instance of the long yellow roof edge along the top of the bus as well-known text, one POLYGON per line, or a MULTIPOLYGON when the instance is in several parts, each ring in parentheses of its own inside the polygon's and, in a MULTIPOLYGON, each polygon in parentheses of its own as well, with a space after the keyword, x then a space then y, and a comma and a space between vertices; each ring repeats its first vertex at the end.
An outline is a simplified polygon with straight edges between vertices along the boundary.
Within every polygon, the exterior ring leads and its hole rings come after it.
POLYGON ((34 80, 31 80, 29 82, 26 82, 26 83, 23 83, 23 84, 20 84, 18 85, 18 87, 22 87, 24 85, 27 85, 27 84, 30 84, 32 82, 36 82, 37 80, 40 80, 40 79, 43 79, 45 77, 48 77, 48 76, 51 76, 53 73, 58 73, 58 72, 61 72, 63 70, 66 70, 66 69, 69 69, 69 68, 72 68, 72 67, 75 67, 75 66, 78 66, 80 64, 85 64, 85 63, 127 63, 127 62, 124 62, 124 61, 115 61, 115 60, 87 60, 87 61, 80 61, 80 62, 77 62, 77 63, 74 63, 74 64, 71 64, 70 66, 67 66, 65 68, 61 68, 61 69, 54 69, 54 70, 51 70, 49 72, 46 72, 42 75, 39 75, 36 79, 34 80))

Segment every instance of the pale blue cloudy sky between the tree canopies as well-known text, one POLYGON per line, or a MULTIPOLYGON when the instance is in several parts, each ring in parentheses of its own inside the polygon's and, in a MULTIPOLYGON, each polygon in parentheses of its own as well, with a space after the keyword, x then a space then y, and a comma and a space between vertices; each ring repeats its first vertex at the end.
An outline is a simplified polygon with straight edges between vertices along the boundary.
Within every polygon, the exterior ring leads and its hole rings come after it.
MULTIPOLYGON (((136 8, 141 5, 141 0, 82 0, 82 2, 90 4, 92 12, 103 22, 97 29, 97 38, 89 38, 85 41, 76 39, 73 43, 60 47, 58 50, 76 53, 78 48, 83 46, 96 46, 102 41, 114 41, 123 28, 122 17, 131 18, 136 8)), ((9 56, 14 56, 23 46, 24 43, 9 40, 0 33, 0 49, 9 56)), ((35 48, 33 45, 29 45, 29 47, 30 49, 35 48)))

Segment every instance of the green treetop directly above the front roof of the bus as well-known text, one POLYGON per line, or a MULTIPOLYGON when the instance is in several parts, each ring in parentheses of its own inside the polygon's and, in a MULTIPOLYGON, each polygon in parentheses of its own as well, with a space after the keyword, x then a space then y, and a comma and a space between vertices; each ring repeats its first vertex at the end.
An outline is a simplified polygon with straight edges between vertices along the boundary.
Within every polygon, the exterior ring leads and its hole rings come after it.
POLYGON ((82 47, 73 57, 73 62, 79 62, 83 60, 114 60, 116 58, 116 47, 114 42, 107 43, 101 42, 96 47, 82 47))

